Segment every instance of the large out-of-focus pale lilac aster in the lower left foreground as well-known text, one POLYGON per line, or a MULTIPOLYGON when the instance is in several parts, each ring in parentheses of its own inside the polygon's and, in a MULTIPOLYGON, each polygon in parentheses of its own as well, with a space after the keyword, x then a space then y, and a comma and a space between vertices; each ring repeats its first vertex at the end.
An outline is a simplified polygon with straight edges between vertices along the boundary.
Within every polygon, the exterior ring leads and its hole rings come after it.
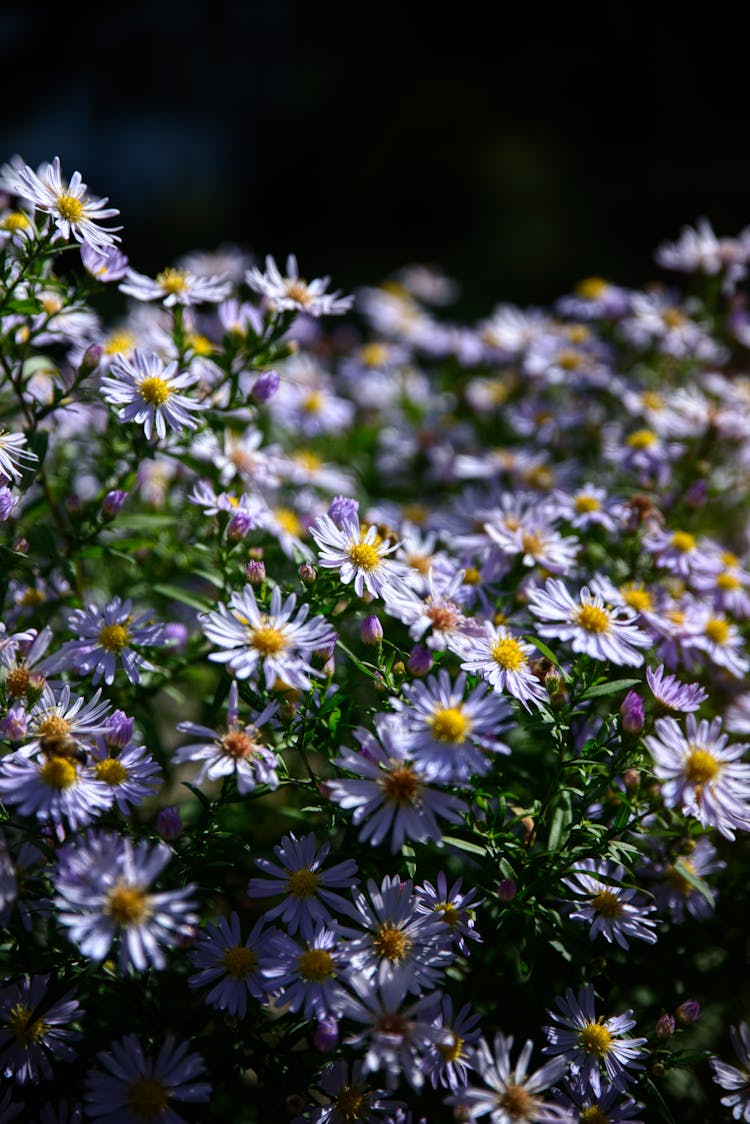
POLYGON ((193 886, 152 891, 172 858, 165 843, 133 843, 110 832, 91 832, 60 852, 55 876, 57 919, 81 952, 103 960, 115 939, 121 972, 163 968, 163 946, 192 934, 193 886))

